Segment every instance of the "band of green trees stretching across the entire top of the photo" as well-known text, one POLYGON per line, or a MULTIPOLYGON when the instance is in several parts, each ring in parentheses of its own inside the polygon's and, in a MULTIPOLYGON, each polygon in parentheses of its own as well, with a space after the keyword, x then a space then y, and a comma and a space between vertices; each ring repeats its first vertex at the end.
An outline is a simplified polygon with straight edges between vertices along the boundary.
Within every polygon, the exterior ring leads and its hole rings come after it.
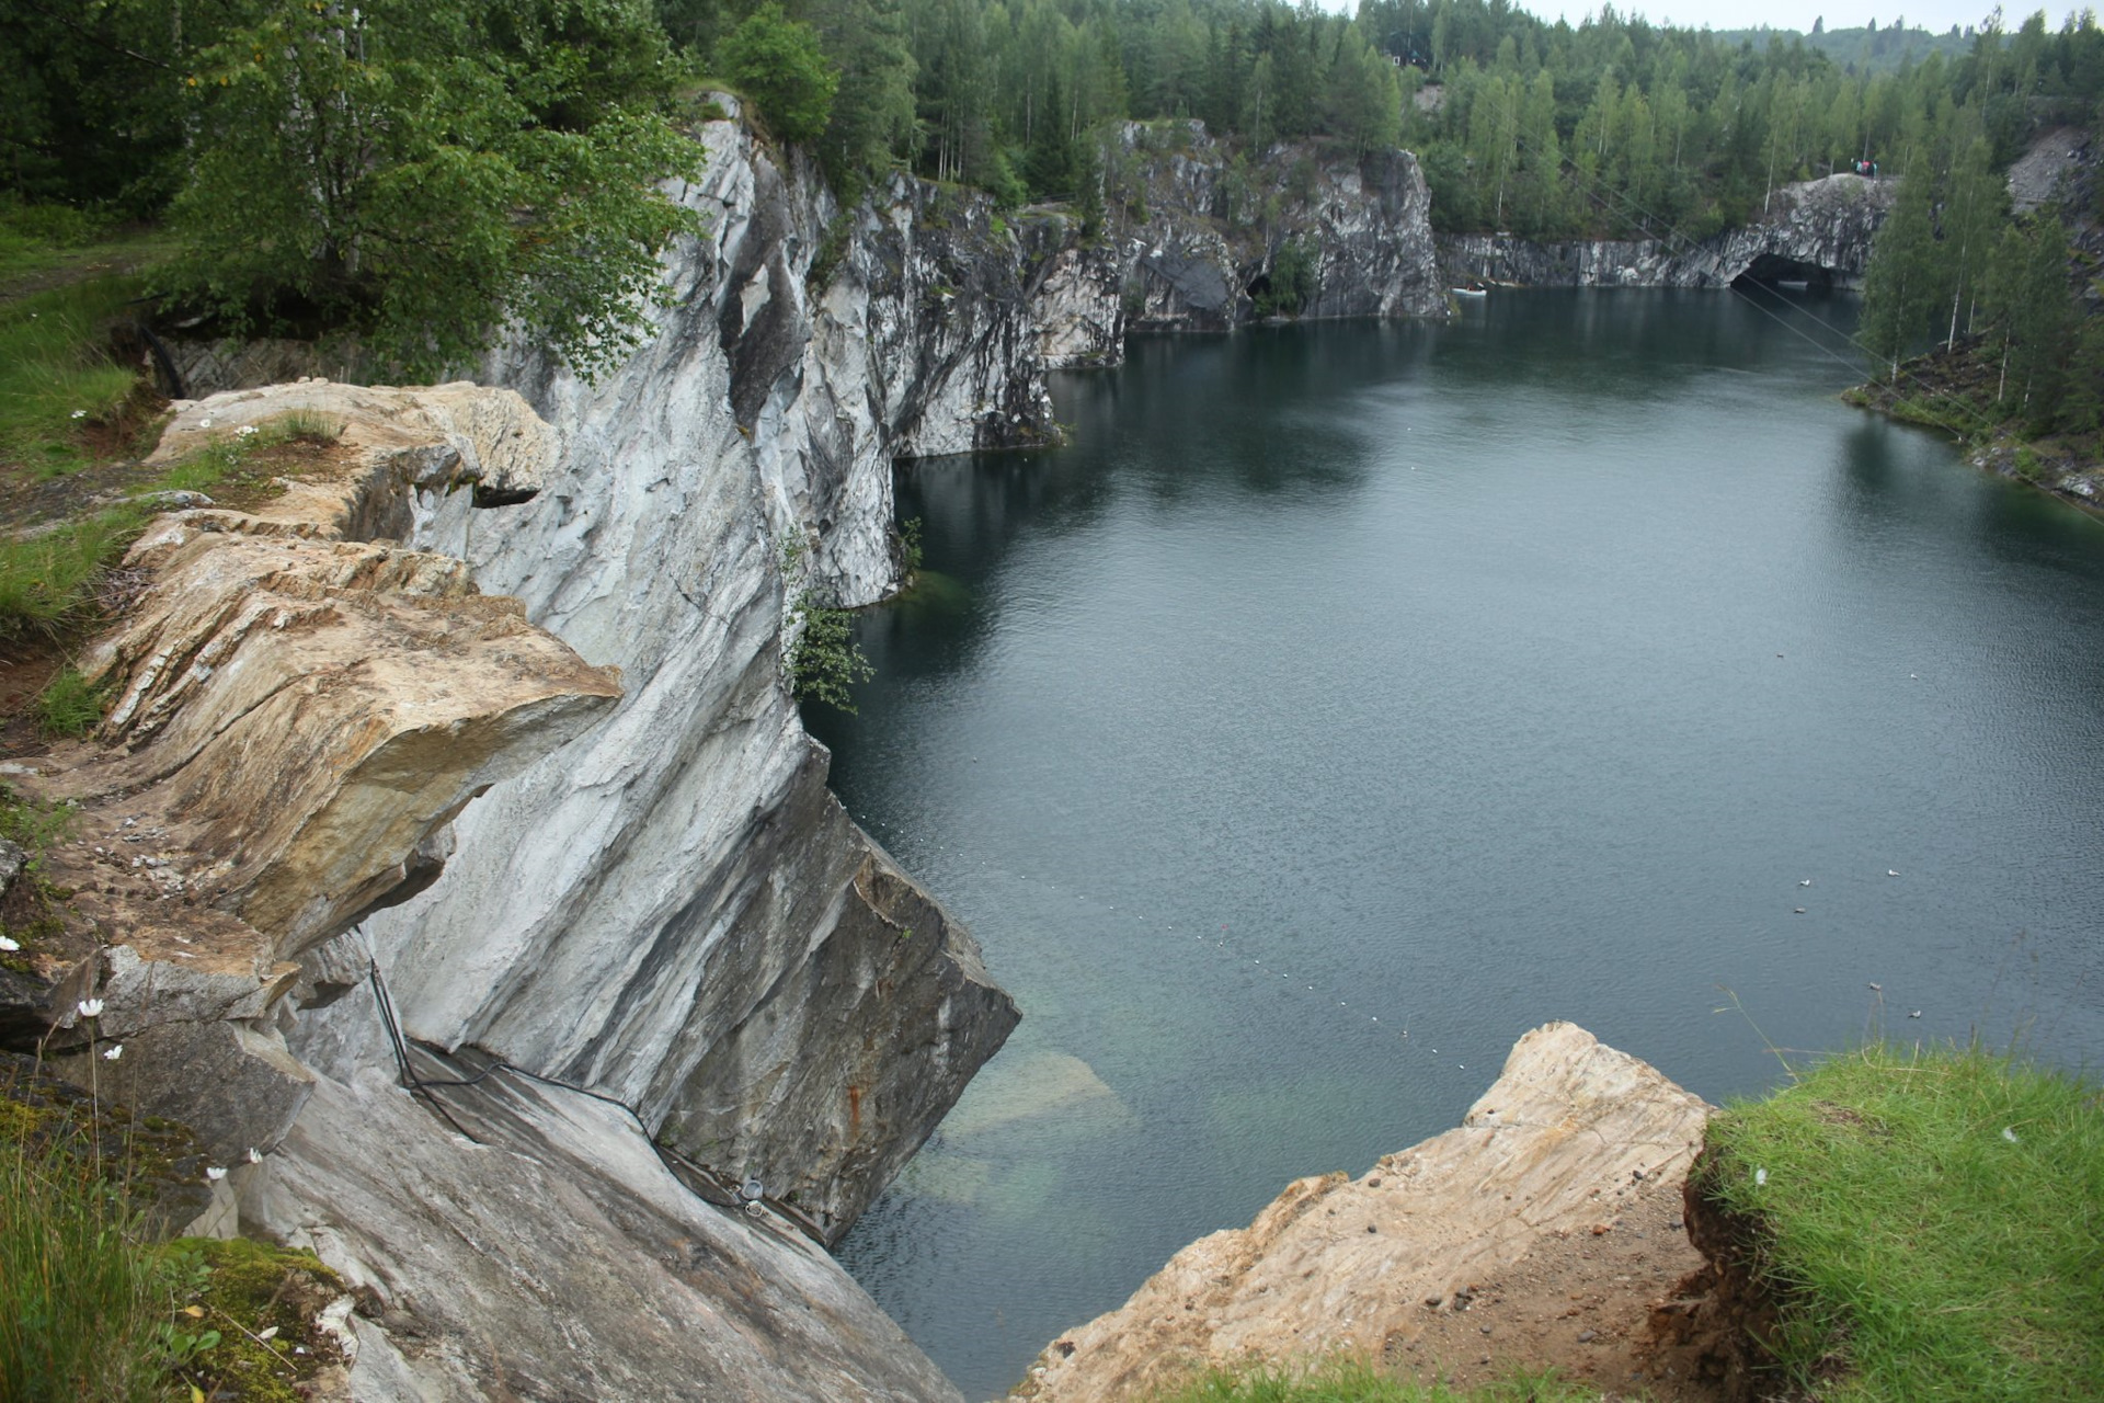
POLYGON ((1506 0, 23 0, 0 200, 170 223, 160 290, 227 324, 351 324, 431 366, 522 318, 604 353, 692 223, 652 185, 690 168, 709 82, 842 194, 909 168, 1092 206, 1111 124, 1195 118, 1243 162, 1416 149, 1445 229, 1702 238, 1856 160, 1942 172, 1984 141, 1999 170, 2093 126, 2104 32, 2041 13, 1852 72, 1506 0))

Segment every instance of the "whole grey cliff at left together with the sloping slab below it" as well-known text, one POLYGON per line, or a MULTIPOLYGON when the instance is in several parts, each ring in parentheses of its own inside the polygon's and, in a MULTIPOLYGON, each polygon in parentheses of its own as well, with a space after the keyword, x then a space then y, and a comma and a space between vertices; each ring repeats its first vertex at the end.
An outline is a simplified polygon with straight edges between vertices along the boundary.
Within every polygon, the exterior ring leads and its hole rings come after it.
POLYGON ((303 919, 297 965, 242 965, 238 1008, 198 1022, 229 1066, 284 1050, 286 1094, 236 1085, 219 1153, 246 1222, 368 1287, 356 1397, 955 1401, 785 1214, 837 1239, 1016 1010, 827 793, 785 650, 804 599, 894 587, 894 456, 1050 438, 1031 265, 983 200, 901 181, 842 215, 741 124, 705 139, 677 196, 707 231, 669 255, 654 334, 598 383, 530 347, 488 368, 541 416, 515 425, 532 463, 492 442, 467 477, 345 507, 619 690, 471 776, 414 852, 366 854, 385 900, 332 892, 372 909, 332 938, 303 919), (368 968, 433 1075, 505 1060, 585 1092, 492 1071, 421 1104, 368 968), (726 1216, 673 1161, 776 1207, 726 1216))

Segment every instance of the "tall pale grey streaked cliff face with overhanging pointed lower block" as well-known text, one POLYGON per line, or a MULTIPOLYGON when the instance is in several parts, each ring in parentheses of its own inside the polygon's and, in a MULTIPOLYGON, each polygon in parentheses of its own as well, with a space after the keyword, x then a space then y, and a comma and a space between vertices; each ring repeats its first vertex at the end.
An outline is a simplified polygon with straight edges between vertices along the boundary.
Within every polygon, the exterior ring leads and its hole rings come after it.
MULTIPOLYGON (((412 1037, 627 1100, 837 1237, 1016 1012, 827 793, 781 682, 785 597, 884 595, 892 456, 1041 438, 1050 404, 983 208, 901 183, 814 286, 844 217, 741 126, 707 143, 684 198, 709 227, 650 343, 595 385, 494 366, 562 444, 539 494, 427 494, 412 530, 627 694, 471 806, 444 875, 364 938, 412 1037)), ((375 1029, 343 1022, 295 1050, 370 1060, 375 1029)))

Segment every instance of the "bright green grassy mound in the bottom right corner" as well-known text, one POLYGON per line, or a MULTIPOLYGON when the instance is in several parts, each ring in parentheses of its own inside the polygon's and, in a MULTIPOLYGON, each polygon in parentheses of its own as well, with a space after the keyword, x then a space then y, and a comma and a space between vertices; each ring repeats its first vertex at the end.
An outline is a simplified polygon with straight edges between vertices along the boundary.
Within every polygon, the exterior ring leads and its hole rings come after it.
POLYGON ((2104 1092, 1971 1050, 1833 1056, 1708 1132, 1772 1342, 1833 1403, 2104 1399, 2104 1092))

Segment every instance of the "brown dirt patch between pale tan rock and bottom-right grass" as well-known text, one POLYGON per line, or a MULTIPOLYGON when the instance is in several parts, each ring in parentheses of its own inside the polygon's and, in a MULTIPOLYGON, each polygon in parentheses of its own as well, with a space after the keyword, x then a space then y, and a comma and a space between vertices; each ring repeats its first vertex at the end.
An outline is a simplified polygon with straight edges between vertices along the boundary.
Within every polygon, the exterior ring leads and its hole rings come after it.
POLYGON ((1515 1365, 1553 1367, 1607 1399, 1723 1403, 1700 1342, 1658 1344, 1652 1331, 1654 1310, 1687 1310, 1679 1292, 1702 1264, 1675 1176, 1645 1186, 1603 1231, 1553 1237, 1502 1277, 1424 1302, 1424 1329, 1391 1336, 1384 1355, 1420 1382, 1479 1384, 1515 1365))

